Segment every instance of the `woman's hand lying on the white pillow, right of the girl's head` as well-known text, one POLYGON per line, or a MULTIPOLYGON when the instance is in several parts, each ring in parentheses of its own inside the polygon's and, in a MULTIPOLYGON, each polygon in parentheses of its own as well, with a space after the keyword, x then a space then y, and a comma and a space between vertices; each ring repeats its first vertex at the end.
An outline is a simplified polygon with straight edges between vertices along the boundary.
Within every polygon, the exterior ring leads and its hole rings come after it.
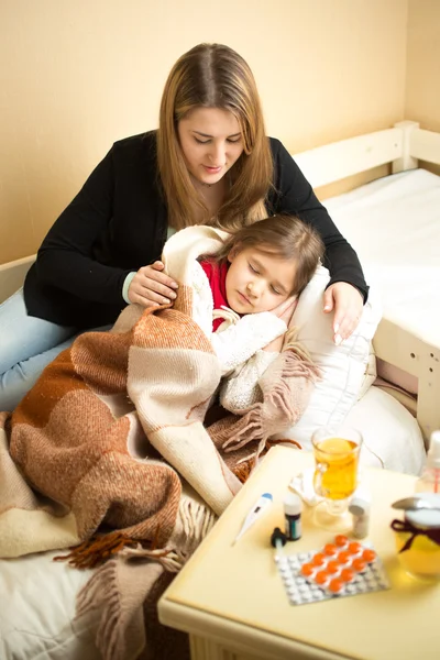
POLYGON ((326 289, 323 310, 328 314, 334 309, 333 341, 337 346, 356 329, 363 306, 361 293, 348 282, 336 282, 326 289))

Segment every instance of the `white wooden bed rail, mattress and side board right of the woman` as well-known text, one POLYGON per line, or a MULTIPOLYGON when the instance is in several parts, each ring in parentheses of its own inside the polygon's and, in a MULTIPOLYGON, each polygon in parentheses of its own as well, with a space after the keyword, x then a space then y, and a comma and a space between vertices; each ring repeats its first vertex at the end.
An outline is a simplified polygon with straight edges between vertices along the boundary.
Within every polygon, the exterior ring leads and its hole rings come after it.
POLYGON ((391 163, 394 174, 326 206, 383 292, 376 356, 417 378, 415 411, 426 441, 440 427, 440 134, 411 121, 295 155, 314 188, 391 163), (389 221, 389 223, 388 223, 389 221))

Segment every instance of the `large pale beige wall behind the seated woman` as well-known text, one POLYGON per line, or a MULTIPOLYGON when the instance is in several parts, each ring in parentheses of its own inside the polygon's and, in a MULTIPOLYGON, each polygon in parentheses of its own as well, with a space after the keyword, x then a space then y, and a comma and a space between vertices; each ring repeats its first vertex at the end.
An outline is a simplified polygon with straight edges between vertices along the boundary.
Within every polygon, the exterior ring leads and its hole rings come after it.
POLYGON ((201 41, 248 59, 292 152, 404 119, 407 15, 408 0, 1 0, 0 263, 37 249, 114 140, 157 125, 170 66, 201 41))

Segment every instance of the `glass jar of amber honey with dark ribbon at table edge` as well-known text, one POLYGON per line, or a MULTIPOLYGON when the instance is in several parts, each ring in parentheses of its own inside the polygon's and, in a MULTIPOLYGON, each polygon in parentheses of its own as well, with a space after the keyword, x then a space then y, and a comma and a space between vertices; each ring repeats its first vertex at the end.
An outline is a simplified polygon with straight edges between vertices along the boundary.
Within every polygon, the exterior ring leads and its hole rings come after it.
POLYGON ((440 495, 424 494, 438 508, 406 510, 393 520, 397 557, 407 573, 428 582, 440 581, 440 495))

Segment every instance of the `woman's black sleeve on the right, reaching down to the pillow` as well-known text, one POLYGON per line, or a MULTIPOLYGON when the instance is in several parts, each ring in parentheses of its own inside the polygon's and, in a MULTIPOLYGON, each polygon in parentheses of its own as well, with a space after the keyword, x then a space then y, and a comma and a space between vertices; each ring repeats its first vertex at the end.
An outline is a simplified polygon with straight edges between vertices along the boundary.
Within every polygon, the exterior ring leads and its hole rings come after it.
POLYGON ((323 265, 330 271, 328 286, 336 282, 348 282, 360 290, 366 302, 369 287, 353 248, 340 233, 327 209, 318 201, 310 184, 283 144, 271 138, 271 147, 275 175, 275 190, 270 195, 272 210, 295 213, 315 227, 326 246, 323 265))

